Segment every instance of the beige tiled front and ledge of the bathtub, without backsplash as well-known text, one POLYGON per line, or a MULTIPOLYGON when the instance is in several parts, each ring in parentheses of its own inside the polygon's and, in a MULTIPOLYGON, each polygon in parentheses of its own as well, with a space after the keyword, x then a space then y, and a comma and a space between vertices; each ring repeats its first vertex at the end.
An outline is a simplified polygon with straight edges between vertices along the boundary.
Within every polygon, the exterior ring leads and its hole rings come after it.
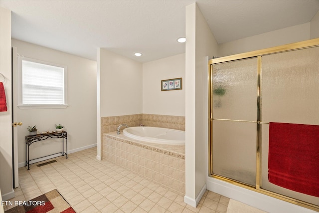
POLYGON ((103 141, 104 159, 176 194, 185 194, 184 145, 141 142, 115 132, 104 134, 103 141))

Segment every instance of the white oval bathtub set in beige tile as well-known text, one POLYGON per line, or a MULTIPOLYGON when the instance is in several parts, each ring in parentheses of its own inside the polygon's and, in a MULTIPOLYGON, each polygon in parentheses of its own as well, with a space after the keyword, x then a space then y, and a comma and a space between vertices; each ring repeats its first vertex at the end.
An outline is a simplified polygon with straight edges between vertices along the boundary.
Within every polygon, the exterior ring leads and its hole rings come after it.
POLYGON ((129 138, 144 142, 185 145, 185 131, 181 130, 159 127, 129 127, 123 130, 123 134, 129 138))

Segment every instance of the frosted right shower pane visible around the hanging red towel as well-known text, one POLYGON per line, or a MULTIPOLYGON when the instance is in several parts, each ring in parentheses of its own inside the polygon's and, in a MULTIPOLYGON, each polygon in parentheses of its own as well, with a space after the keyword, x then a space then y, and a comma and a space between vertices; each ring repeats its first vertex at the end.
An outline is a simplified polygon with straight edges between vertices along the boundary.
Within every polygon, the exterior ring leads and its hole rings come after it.
MULTIPOLYGON (((262 56, 261 120, 319 125, 319 47, 262 56)), ((260 188, 319 205, 318 197, 268 181, 269 124, 261 124, 260 188)))

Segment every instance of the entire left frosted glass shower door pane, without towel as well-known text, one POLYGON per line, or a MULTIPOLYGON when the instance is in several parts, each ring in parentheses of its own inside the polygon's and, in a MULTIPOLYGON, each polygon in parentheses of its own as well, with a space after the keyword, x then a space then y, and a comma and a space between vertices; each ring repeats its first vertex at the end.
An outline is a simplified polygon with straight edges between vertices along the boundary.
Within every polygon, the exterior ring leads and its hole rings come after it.
POLYGON ((256 186, 257 58, 212 70, 212 173, 256 186))

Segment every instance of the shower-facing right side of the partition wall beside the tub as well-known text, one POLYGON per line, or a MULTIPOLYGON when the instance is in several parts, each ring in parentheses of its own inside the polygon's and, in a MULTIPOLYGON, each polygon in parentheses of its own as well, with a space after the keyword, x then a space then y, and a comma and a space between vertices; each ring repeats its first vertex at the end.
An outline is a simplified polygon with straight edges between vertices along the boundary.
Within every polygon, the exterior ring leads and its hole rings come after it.
POLYGON ((218 54, 217 41, 196 5, 196 196, 208 176, 208 57, 218 54), (203 167, 203 165, 205 165, 203 167))

